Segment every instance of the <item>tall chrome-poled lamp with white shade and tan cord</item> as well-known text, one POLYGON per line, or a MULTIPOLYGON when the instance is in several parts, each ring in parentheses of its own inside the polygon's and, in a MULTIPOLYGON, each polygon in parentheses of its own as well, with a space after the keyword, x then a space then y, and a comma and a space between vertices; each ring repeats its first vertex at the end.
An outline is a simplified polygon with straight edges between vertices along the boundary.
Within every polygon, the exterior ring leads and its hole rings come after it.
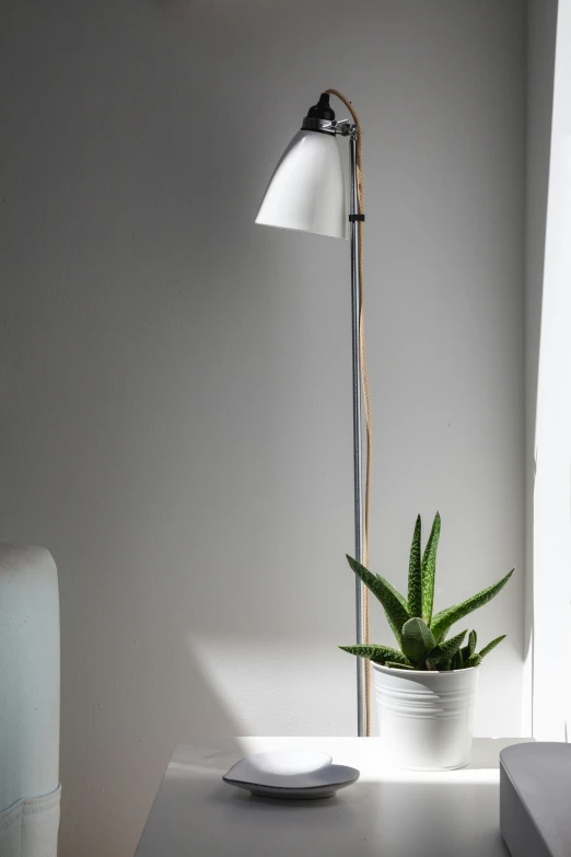
MULTIPOLYGON (((362 132, 351 103, 337 90, 326 90, 310 108, 283 152, 261 201, 256 223, 313 232, 317 235, 351 239, 351 310, 353 366, 353 484, 354 557, 368 563, 369 496, 371 478, 371 419, 363 331, 362 230, 364 222, 362 132), (329 95, 339 97, 352 121, 337 121, 329 95), (351 183, 347 210, 346 184, 336 137, 349 140, 351 183), (363 420, 366 428, 365 485, 363 491, 363 420)), ((369 641, 368 591, 356 578, 357 642, 369 641)), ((358 734, 370 734, 369 662, 357 659, 358 734)))

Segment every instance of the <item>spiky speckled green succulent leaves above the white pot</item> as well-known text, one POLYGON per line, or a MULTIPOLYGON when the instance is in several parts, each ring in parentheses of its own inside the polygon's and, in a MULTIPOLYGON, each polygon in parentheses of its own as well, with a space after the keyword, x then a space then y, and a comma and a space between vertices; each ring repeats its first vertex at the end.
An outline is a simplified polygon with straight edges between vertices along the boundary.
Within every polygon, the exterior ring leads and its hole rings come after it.
POLYGON ((422 522, 420 514, 418 516, 410 546, 407 598, 397 592, 383 577, 374 575, 356 559, 347 556, 354 574, 383 605, 398 649, 373 644, 340 646, 340 649, 398 670, 447 671, 479 667, 482 659, 504 639, 505 634, 497 637, 479 651, 476 651, 478 638, 475 630, 470 630, 468 634, 466 629, 446 639, 448 630, 456 622, 478 607, 488 604, 501 592, 514 569, 512 568, 493 586, 482 589, 481 592, 461 604, 433 615, 440 530, 441 518, 436 512, 429 540, 422 552, 422 522), (466 634, 468 634, 467 641, 466 634))

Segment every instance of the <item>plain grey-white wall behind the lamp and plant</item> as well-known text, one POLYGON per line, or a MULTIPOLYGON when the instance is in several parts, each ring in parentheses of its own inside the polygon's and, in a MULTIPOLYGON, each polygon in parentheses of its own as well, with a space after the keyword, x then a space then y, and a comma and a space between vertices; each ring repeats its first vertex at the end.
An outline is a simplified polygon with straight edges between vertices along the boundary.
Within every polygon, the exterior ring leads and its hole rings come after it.
MULTIPOLYGON (((365 128, 372 566, 404 587, 440 508, 440 606, 522 568, 523 4, 2 19, 2 535, 59 565, 61 855, 127 857, 178 734, 354 730, 348 246, 254 225, 327 85, 365 128)), ((475 618, 480 734, 521 731, 522 615, 520 572, 475 618)))

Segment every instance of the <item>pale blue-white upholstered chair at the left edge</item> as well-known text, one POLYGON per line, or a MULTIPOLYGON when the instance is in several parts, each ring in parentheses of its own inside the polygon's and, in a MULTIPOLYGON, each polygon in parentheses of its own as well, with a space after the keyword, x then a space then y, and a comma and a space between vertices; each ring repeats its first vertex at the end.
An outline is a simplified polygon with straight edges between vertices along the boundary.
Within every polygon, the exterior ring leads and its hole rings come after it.
POLYGON ((0 543, 0 855, 56 857, 59 599, 42 547, 0 543))

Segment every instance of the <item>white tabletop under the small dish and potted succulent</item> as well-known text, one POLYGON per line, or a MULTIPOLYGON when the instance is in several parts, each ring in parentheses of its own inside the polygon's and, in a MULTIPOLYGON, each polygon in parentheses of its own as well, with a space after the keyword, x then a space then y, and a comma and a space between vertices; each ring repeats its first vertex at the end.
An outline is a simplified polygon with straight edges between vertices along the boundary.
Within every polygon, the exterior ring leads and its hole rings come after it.
POLYGON ((375 738, 234 738, 176 746, 136 857, 506 857, 498 824, 500 750, 475 739, 469 767, 420 774, 383 765, 375 738), (248 753, 323 750, 361 771, 326 800, 280 801, 228 786, 248 753))

